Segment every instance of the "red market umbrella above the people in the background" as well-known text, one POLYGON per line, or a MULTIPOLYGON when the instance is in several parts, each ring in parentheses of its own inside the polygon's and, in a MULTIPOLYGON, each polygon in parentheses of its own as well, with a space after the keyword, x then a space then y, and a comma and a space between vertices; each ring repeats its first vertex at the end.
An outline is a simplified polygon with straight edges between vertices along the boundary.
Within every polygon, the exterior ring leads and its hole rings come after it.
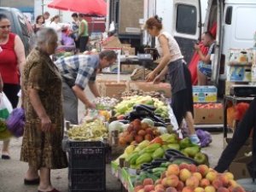
POLYGON ((53 0, 49 8, 69 10, 88 16, 106 16, 107 3, 104 0, 53 0))

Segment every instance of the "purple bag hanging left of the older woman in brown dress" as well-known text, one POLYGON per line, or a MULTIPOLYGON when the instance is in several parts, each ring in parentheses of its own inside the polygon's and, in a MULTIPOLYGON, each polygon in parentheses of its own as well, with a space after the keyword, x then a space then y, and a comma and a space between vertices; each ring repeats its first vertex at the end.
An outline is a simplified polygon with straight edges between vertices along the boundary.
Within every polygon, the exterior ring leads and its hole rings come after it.
POLYGON ((23 108, 15 108, 6 120, 8 130, 15 136, 23 136, 25 126, 25 112, 23 108))

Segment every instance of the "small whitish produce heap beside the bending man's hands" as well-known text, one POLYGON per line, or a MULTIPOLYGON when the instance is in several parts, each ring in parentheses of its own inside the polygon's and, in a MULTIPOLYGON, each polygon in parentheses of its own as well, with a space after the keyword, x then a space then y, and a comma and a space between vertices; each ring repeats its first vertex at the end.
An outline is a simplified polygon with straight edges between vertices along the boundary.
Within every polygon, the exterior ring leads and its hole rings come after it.
POLYGON ((110 97, 96 97, 94 100, 94 103, 96 104, 96 109, 100 110, 111 110, 114 108, 114 106, 118 103, 119 101, 115 98, 110 98, 110 97))

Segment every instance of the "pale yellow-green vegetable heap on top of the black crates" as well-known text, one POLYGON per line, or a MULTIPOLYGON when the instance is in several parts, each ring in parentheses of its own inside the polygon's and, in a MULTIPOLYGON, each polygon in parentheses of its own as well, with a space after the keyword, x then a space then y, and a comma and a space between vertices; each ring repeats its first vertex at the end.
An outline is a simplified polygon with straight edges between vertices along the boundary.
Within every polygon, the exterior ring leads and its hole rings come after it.
POLYGON ((96 119, 93 122, 73 125, 67 134, 73 140, 100 141, 103 137, 108 137, 108 130, 101 120, 96 119))

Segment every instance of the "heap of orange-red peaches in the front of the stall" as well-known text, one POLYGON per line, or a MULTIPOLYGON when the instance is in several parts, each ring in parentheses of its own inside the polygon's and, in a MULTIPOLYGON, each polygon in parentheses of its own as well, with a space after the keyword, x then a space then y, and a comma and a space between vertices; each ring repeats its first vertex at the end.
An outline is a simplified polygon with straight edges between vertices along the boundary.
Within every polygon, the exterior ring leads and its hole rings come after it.
POLYGON ((172 164, 158 179, 136 181, 135 192, 245 192, 230 172, 218 173, 206 165, 172 164))

